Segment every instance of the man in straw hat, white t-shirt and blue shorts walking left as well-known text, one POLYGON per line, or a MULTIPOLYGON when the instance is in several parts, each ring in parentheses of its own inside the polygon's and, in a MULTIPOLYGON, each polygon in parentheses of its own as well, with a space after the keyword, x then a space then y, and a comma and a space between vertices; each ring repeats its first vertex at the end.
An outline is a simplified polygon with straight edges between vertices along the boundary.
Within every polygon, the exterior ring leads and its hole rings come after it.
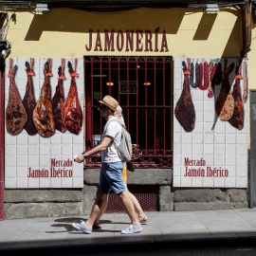
POLYGON ((122 201, 124 208, 128 212, 131 220, 131 225, 121 231, 121 234, 130 234, 141 231, 142 227, 137 219, 134 204, 125 191, 121 171, 123 164, 119 158, 118 152, 115 146, 112 144, 113 141, 116 145, 119 145, 121 139, 121 126, 117 121, 111 121, 110 119, 117 119, 114 113, 119 105, 111 96, 105 96, 100 101, 101 117, 106 119, 106 124, 102 133, 102 142, 97 147, 83 152, 75 158, 76 162, 81 163, 85 158, 92 155, 101 154, 101 175, 100 183, 96 193, 96 199, 94 206, 91 210, 90 216, 86 222, 81 221, 80 224, 73 223, 72 226, 76 229, 82 230, 85 233, 91 233, 93 225, 97 217, 101 214, 102 210, 106 209, 107 200, 106 197, 111 190, 119 195, 119 199, 122 201))

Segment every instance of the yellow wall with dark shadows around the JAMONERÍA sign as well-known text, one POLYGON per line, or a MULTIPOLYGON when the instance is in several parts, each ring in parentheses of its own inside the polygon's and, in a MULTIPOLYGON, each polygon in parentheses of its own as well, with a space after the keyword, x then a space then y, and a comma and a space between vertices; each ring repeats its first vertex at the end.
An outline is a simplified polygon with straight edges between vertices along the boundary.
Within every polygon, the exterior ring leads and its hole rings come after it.
MULTIPOLYGON (((28 9, 27 9, 28 10, 28 9)), ((10 13, 11 14, 11 13, 10 13)), ((242 48, 241 11, 221 9, 133 9, 119 13, 92 13, 77 9, 50 9, 43 15, 26 10, 10 22, 8 40, 12 58, 81 58, 83 55, 163 55, 162 52, 86 52, 88 30, 151 30, 167 33, 169 52, 176 57, 237 57, 242 48)), ((96 34, 94 34, 95 36, 96 34)))

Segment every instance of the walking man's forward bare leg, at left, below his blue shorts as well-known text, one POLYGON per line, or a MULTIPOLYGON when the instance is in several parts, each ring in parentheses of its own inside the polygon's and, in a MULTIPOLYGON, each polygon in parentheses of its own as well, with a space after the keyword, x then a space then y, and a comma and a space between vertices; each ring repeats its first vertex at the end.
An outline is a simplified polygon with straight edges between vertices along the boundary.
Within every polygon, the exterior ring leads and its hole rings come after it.
POLYGON ((101 213, 101 210, 103 210, 104 208, 106 197, 107 195, 105 193, 96 193, 95 203, 93 205, 89 218, 85 222, 87 226, 93 227, 95 220, 100 216, 100 214, 103 214, 101 213))

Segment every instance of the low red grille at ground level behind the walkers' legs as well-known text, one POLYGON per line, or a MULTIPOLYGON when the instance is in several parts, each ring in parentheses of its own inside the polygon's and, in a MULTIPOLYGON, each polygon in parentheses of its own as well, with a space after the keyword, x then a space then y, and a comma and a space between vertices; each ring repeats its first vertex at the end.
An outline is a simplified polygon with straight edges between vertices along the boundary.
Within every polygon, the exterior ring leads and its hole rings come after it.
MULTIPOLYGON (((132 192, 143 211, 158 210, 158 186, 155 185, 129 185, 129 191, 132 192)), ((105 212, 124 212, 124 207, 119 196, 110 192, 108 197, 108 205, 105 212)))

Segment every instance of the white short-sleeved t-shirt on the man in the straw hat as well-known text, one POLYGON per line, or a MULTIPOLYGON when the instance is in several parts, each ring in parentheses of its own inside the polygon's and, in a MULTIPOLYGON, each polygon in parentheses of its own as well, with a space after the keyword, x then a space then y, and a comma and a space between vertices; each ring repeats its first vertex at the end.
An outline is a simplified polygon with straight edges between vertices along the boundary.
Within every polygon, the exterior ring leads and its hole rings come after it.
MULTIPOLYGON (((117 119, 117 118, 112 118, 117 119)), ((102 137, 109 136, 113 137, 114 142, 116 145, 120 144, 121 139, 121 126, 117 121, 111 121, 109 119, 103 129, 102 137)), ((119 121, 119 119, 117 119, 119 121)), ((102 163, 116 163, 120 161, 119 155, 117 150, 115 149, 115 146, 112 144, 112 142, 109 145, 110 153, 108 152, 108 148, 104 150, 101 154, 101 161, 102 163)))

